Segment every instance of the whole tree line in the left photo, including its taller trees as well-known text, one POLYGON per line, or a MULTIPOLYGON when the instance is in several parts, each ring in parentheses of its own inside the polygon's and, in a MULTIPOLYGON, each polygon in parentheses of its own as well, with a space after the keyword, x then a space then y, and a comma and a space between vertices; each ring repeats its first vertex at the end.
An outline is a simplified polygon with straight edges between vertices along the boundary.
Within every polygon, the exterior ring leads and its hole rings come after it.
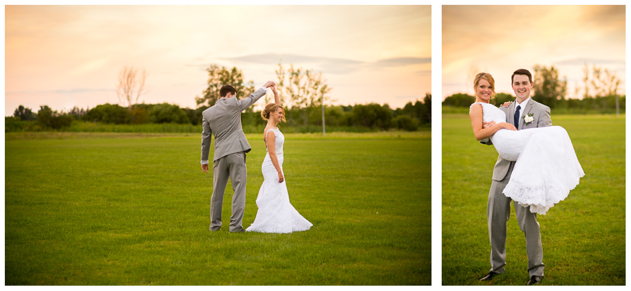
MULTIPOLYGON (((179 123, 199 125, 202 111, 206 110, 220 98, 219 89, 230 84, 237 89, 239 98, 253 93, 254 82, 245 83, 242 72, 236 67, 227 69, 215 64, 209 66, 208 88, 203 96, 196 96, 197 108, 180 108, 168 103, 137 103, 139 96, 146 92, 144 80, 146 72, 133 67, 125 67, 119 74, 117 93, 119 100, 126 106, 106 103, 94 108, 74 107, 69 111, 54 111, 49 106, 40 106, 37 113, 31 108, 20 105, 13 117, 5 118, 5 132, 63 130, 73 122, 105 123, 105 124, 143 124, 143 123, 179 123)), ((392 109, 389 105, 376 103, 348 106, 327 105, 331 102, 331 88, 321 72, 294 68, 284 69, 278 64, 277 89, 281 101, 285 105, 285 118, 289 127, 363 127, 371 130, 418 130, 431 123, 432 95, 425 94, 423 100, 408 102, 403 108, 392 109)), ((264 104, 269 103, 265 96, 264 104)), ((261 102, 259 101, 259 102, 261 102)), ((261 111, 247 108, 241 115, 244 126, 265 125, 261 111)))

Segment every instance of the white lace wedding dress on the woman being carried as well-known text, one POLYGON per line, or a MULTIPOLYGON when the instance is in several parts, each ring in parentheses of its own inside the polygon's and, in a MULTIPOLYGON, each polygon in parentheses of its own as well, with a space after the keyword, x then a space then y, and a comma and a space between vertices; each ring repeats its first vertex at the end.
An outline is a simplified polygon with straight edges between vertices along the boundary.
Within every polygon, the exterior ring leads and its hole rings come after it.
MULTIPOLYGON (((500 108, 478 104, 482 105, 483 122, 506 122, 500 108)), ((546 214, 585 176, 572 140, 563 127, 500 129, 491 141, 500 156, 516 161, 504 195, 522 206, 530 206, 530 212, 546 214)))

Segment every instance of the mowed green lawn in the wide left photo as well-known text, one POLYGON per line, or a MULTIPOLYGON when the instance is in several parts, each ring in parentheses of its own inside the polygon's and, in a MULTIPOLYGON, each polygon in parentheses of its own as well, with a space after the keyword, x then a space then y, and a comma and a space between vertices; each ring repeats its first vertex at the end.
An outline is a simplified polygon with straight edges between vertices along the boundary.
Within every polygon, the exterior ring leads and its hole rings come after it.
MULTIPOLYGON (((248 135, 244 227, 265 147, 248 135)), ((209 232, 201 134, 6 134, 6 285, 429 285, 430 133, 289 134, 305 232, 209 232)))

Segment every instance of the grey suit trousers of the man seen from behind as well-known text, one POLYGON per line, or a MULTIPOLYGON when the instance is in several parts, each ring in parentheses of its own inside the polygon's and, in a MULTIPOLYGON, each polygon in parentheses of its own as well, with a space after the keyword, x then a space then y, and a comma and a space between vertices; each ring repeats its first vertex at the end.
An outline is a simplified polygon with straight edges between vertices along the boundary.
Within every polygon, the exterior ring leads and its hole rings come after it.
POLYGON ((231 232, 244 231, 241 222, 245 211, 245 182, 247 169, 245 168, 245 152, 235 152, 213 161, 213 196, 210 198, 210 230, 221 228, 221 206, 223 193, 228 185, 228 178, 232 181, 232 215, 230 215, 231 232))

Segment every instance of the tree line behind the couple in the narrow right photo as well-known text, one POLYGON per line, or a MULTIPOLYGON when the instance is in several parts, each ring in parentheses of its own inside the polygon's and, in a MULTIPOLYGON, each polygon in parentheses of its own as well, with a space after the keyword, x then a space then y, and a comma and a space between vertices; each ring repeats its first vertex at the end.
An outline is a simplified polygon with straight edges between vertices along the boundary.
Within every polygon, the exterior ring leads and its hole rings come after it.
MULTIPOLYGON (((554 67, 535 66, 533 74, 532 98, 551 109, 563 110, 569 113, 619 113, 625 111, 626 95, 618 94, 620 79, 615 72, 585 65, 582 84, 574 89, 574 96, 569 98, 567 78, 560 77, 554 67)), ((514 101, 512 94, 497 93, 495 104, 514 101)), ((456 93, 447 96, 442 105, 455 107, 469 107, 475 102, 475 96, 466 93, 456 93)))

